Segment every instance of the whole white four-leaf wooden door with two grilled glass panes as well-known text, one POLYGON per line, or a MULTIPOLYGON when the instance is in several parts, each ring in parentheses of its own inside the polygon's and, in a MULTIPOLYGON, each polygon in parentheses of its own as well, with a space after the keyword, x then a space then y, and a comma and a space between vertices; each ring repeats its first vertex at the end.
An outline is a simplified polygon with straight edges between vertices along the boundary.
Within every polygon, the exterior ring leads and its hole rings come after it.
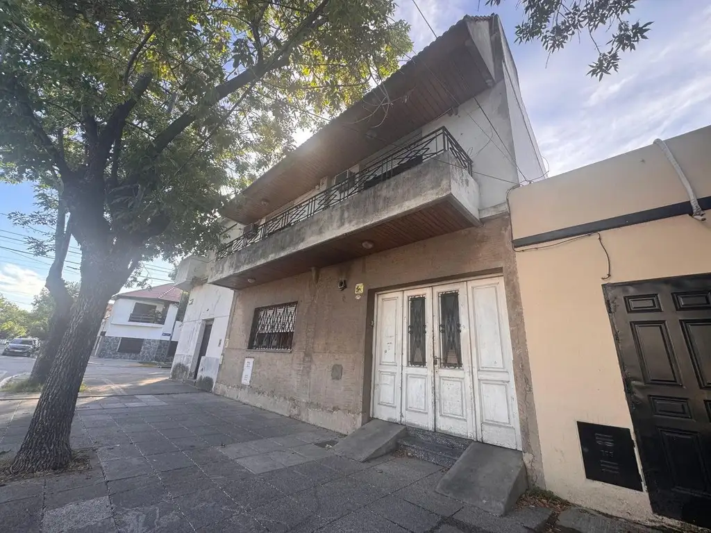
POLYGON ((520 449, 503 279, 376 298, 373 417, 520 449))

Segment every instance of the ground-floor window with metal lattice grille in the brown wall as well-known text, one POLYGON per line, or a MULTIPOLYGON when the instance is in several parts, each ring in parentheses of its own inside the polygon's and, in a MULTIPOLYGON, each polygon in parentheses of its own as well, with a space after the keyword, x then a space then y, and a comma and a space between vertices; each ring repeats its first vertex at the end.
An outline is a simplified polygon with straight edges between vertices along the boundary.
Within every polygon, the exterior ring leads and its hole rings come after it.
POLYGON ((257 307, 252 318, 249 350, 291 350, 296 302, 257 307))

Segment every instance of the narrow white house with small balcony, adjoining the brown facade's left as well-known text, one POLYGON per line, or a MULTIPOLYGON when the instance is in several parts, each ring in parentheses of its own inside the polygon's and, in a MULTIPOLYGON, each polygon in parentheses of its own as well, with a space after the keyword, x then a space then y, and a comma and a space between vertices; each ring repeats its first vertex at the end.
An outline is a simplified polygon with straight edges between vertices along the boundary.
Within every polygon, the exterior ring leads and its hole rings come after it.
POLYGON ((207 257, 189 256, 178 265, 176 286, 190 294, 171 377, 192 379, 197 387, 212 390, 222 361, 234 291, 206 284, 208 269, 207 257))

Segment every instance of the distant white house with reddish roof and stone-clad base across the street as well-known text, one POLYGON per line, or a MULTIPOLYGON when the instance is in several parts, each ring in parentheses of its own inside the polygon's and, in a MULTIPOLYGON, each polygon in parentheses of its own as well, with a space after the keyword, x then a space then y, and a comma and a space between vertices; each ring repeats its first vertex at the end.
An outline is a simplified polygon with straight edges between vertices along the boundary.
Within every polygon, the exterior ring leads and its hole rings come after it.
POLYGON ((173 360, 178 344, 173 329, 182 294, 178 287, 166 284, 114 296, 96 357, 173 360))

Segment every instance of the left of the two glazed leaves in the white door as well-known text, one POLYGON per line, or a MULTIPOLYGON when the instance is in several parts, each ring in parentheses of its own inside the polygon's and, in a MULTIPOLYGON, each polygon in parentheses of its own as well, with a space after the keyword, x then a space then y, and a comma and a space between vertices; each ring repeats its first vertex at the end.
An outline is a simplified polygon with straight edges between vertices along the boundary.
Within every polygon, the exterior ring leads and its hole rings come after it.
POLYGON ((405 291, 402 424, 434 431, 432 289, 405 291))

